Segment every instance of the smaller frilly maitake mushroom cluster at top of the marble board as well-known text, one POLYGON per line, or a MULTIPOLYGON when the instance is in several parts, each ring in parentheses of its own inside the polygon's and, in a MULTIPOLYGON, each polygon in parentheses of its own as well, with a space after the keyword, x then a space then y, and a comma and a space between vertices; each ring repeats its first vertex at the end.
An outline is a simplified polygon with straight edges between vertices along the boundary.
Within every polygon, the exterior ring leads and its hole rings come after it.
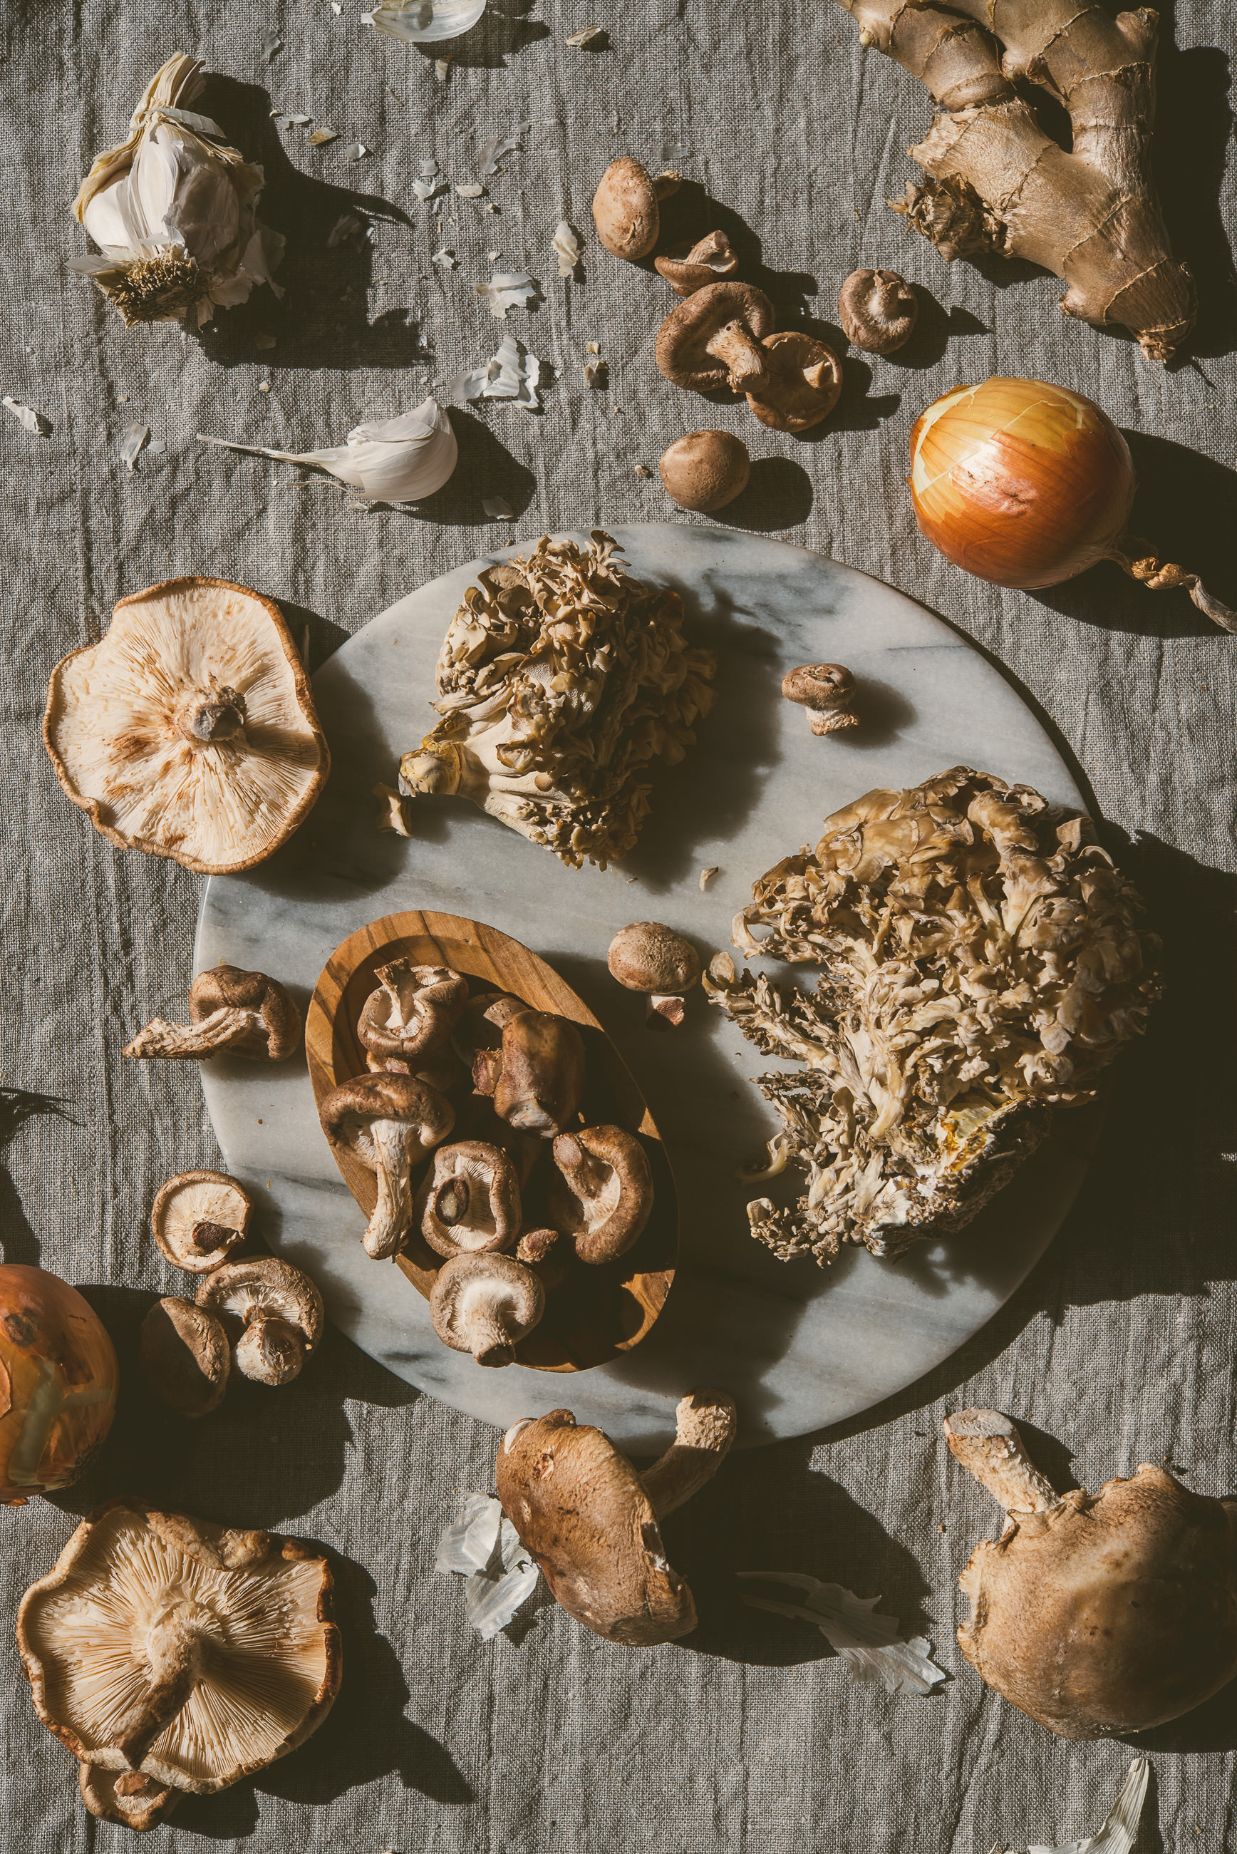
POLYGON ((566 862, 603 870, 636 842, 649 766, 673 766, 714 703, 712 651, 682 601, 632 578, 614 540, 543 536, 469 586, 438 658, 441 721, 399 766, 401 792, 462 794, 566 862))

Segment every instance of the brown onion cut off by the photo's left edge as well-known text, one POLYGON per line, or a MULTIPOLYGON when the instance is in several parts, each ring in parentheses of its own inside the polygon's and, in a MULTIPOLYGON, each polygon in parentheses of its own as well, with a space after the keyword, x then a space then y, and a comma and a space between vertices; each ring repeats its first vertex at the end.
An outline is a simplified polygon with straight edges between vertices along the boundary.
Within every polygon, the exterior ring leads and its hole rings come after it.
POLYGON ((119 1385, 115 1346, 76 1287, 0 1264, 0 1504, 70 1487, 111 1428, 119 1385))

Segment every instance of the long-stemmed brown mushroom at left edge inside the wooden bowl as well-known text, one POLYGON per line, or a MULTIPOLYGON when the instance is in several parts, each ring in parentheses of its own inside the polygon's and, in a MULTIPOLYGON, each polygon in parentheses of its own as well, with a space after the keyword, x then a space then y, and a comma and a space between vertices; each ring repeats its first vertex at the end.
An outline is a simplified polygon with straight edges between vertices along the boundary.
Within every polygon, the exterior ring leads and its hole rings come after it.
POLYGON ((412 1225, 412 1168, 454 1125, 451 1101, 415 1075, 358 1075, 319 1101, 323 1133, 375 1174, 378 1201, 365 1229, 365 1253, 395 1255, 412 1225))

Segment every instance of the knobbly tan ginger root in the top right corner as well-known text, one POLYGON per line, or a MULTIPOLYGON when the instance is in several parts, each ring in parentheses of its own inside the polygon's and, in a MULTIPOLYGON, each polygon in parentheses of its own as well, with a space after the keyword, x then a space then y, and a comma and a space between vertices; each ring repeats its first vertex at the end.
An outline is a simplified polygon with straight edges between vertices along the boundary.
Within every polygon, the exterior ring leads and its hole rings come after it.
POLYGON ((1194 278, 1168 248, 1150 172, 1155 35, 1148 7, 1113 19, 1087 0, 838 0, 861 43, 896 59, 937 102, 911 148, 925 171, 903 200, 940 254, 1026 258, 1070 287, 1066 315, 1122 324, 1152 360, 1194 326, 1194 278), (1014 89, 1048 91, 1070 117, 1066 154, 1014 89))

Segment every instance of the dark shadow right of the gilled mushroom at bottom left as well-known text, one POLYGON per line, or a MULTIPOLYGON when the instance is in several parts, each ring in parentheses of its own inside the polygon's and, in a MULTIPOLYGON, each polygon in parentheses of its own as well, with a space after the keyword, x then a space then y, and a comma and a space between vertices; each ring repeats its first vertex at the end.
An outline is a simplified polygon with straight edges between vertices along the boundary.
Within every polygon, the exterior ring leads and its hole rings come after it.
POLYGON ((395 1648, 375 1624, 375 1580, 351 1557, 328 1556, 343 1637, 339 1698, 312 1743, 267 1765, 256 1787, 287 1802, 323 1804, 393 1771, 404 1789, 419 1789, 432 1802, 475 1802, 451 1754, 404 1717, 410 1689, 395 1648))

